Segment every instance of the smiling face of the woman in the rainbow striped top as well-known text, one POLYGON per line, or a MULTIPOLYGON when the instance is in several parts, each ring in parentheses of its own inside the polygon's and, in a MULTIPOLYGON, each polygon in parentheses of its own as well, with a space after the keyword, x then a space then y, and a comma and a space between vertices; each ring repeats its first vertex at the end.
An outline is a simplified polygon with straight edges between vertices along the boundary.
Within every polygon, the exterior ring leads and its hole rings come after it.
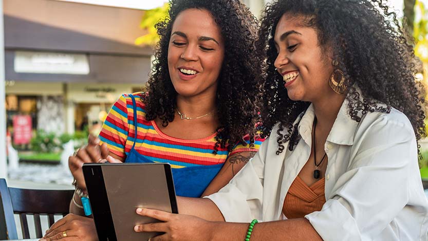
POLYGON ((221 30, 208 10, 178 14, 168 47, 168 69, 178 95, 214 95, 225 55, 221 30))

